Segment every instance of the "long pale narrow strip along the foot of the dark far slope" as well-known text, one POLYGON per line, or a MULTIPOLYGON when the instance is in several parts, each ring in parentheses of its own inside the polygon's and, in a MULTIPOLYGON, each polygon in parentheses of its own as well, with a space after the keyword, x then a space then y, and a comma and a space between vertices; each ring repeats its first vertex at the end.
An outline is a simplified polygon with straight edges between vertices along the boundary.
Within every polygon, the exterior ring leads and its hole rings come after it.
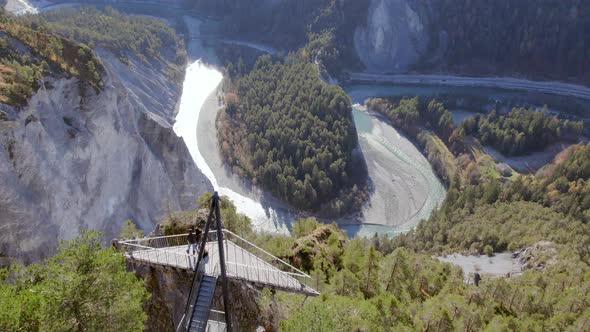
POLYGON ((384 75, 368 73, 349 73, 349 77, 349 83, 419 84, 500 88, 571 96, 590 100, 590 88, 582 85, 551 81, 529 81, 511 77, 467 77, 421 74, 384 75))

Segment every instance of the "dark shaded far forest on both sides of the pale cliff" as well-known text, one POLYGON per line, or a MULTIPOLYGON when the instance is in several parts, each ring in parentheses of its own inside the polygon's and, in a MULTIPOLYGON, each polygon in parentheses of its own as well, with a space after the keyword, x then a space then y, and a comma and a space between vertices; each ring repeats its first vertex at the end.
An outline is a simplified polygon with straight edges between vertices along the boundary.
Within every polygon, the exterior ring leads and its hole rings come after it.
MULTIPOLYGON (((314 36, 329 46, 318 54, 330 73, 362 70, 353 38, 355 28, 367 24, 371 1, 288 0, 272 11, 260 2, 200 0, 194 6, 226 14, 223 33, 285 49, 304 47, 314 36)), ((587 0, 404 2, 429 31, 428 50, 413 70, 590 82, 587 0)))

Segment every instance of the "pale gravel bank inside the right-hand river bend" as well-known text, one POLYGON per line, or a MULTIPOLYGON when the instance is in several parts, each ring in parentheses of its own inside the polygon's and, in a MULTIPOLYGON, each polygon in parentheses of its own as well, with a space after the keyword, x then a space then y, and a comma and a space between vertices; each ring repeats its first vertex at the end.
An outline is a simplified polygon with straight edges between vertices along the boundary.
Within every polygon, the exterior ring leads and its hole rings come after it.
POLYGON ((358 109, 353 114, 371 186, 361 220, 409 230, 442 202, 444 187, 428 160, 395 128, 358 109))

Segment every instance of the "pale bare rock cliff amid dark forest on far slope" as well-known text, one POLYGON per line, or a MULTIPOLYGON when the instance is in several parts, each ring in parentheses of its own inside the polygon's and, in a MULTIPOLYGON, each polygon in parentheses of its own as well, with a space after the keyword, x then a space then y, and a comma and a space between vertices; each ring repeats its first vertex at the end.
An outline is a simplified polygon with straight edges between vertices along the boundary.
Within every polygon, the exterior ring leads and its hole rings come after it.
POLYGON ((425 8, 408 0, 372 0, 366 26, 355 30, 356 52, 368 72, 402 72, 428 47, 425 8))

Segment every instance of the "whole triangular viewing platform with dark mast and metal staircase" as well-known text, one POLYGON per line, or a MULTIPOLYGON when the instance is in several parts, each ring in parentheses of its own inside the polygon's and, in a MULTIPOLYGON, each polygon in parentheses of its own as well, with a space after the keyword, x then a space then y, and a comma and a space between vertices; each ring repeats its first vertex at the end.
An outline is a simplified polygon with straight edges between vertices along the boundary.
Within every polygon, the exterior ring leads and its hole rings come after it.
POLYGON ((129 260, 194 273, 187 304, 177 331, 239 331, 235 325, 232 328, 228 280, 306 296, 319 295, 309 286, 311 284, 309 275, 224 229, 217 193, 211 200, 209 218, 205 224, 197 255, 187 253, 188 234, 114 242, 129 260), (211 229, 213 219, 216 221, 215 229, 211 229), (218 283, 221 283, 225 312, 211 310, 218 283))

